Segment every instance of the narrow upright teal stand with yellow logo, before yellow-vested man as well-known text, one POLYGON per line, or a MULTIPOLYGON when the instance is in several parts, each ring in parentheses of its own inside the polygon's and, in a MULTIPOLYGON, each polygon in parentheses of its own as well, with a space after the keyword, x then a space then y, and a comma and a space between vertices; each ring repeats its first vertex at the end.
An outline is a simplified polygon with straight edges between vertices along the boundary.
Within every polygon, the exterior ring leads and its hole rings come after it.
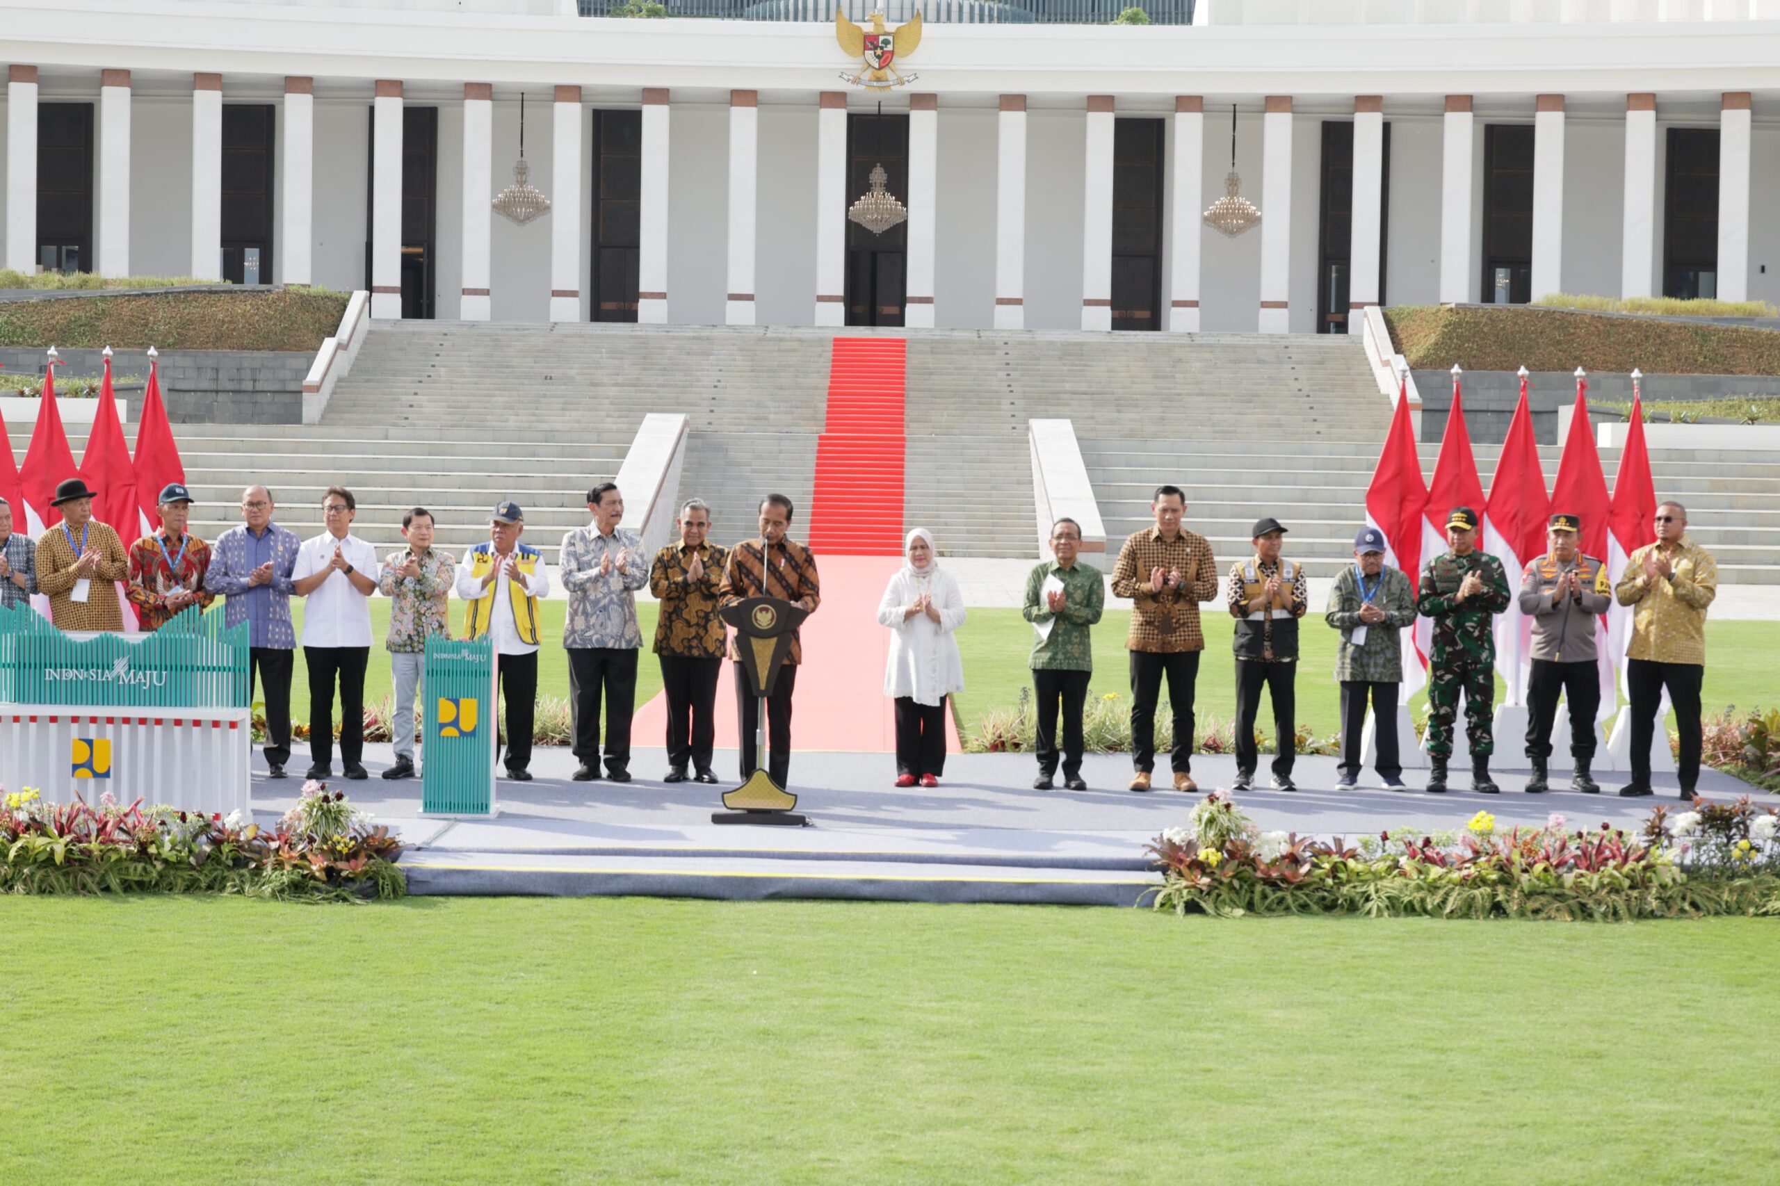
POLYGON ((493 816, 495 807, 495 641, 427 638, 420 670, 420 810, 427 816, 493 816))

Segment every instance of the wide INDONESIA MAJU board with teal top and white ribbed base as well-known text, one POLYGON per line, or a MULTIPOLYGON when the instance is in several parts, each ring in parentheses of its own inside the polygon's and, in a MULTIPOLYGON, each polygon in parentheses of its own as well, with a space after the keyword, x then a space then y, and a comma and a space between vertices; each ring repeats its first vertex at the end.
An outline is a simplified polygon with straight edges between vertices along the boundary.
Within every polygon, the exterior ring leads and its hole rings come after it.
POLYGON ((247 623, 221 605, 151 634, 57 630, 0 607, 0 784, 44 800, 251 814, 247 623))

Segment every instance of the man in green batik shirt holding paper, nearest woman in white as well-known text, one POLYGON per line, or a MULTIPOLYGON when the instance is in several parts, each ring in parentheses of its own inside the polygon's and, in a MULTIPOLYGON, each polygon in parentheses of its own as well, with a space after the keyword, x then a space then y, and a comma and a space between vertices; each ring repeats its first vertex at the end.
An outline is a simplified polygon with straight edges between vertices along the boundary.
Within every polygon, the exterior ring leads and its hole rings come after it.
POLYGON ((1032 689, 1038 693, 1036 791, 1050 791, 1057 773, 1057 707, 1063 707, 1063 785, 1086 791, 1082 782, 1082 703, 1095 670, 1088 629, 1100 621, 1105 584, 1100 573, 1075 563, 1082 527, 1059 518, 1050 527, 1050 554, 1025 579, 1025 620, 1034 627, 1032 689))

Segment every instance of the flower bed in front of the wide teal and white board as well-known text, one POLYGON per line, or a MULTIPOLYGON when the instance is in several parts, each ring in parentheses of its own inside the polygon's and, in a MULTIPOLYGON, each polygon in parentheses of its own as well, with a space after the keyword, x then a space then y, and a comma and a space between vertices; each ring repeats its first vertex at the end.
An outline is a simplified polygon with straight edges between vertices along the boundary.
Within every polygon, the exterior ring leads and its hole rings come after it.
POLYGON ((0 890, 9 894, 185 892, 306 901, 400 898, 400 842, 345 792, 303 784, 272 830, 240 812, 44 803, 27 787, 0 805, 0 890))

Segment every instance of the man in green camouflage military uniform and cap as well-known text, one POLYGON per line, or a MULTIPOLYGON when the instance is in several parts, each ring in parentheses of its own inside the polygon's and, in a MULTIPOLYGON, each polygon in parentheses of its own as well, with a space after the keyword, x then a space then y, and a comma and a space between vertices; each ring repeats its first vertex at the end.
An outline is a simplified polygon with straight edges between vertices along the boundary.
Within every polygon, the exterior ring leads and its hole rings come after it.
POLYGON ((1415 609, 1433 618, 1435 641, 1428 673, 1428 792, 1445 794, 1452 757, 1452 723, 1465 695, 1465 735, 1470 741, 1470 789, 1497 794, 1490 782, 1490 709, 1495 702, 1495 638, 1490 618, 1508 609, 1502 561, 1477 550, 1477 513, 1468 506, 1447 516, 1447 545, 1422 568, 1415 609))

